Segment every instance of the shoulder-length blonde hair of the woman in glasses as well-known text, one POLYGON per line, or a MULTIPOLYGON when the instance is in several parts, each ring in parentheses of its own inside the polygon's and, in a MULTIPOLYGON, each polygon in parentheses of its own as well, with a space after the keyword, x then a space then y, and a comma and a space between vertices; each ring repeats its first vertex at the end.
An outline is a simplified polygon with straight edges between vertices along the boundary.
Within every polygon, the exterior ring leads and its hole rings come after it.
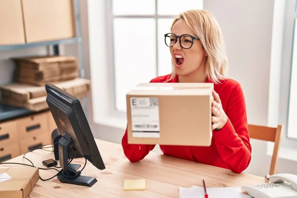
MULTIPOLYGON (((173 20, 171 31, 173 25, 180 19, 185 20, 188 27, 198 36, 207 54, 205 63, 207 77, 213 83, 219 83, 220 80, 225 79, 225 70, 228 67, 227 54, 223 35, 216 19, 205 10, 188 10, 173 20)), ((172 80, 175 75, 175 67, 172 65, 172 73, 168 81, 172 80)))

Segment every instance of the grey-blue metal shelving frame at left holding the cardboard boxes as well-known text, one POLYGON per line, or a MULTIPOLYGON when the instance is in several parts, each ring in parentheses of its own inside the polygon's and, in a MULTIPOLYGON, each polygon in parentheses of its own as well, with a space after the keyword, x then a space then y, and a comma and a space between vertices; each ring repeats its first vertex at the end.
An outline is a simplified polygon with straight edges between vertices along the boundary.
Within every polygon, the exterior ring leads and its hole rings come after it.
MULTIPOLYGON (((79 3, 80 3, 80 0, 73 0, 74 15, 75 15, 75 27, 76 27, 76 37, 75 38, 37 42, 37 43, 2 45, 2 46, 0 46, 0 51, 14 50, 14 49, 26 49, 26 48, 34 48, 34 47, 40 47, 40 46, 52 46, 53 54, 59 55, 59 45, 76 43, 77 44, 77 54, 78 54, 80 77, 85 78, 85 69, 84 69, 84 65, 83 65, 83 54, 82 54, 83 50, 82 50, 79 3)), ((83 101, 83 107, 86 109, 85 101, 83 101)), ((7 104, 0 104, 0 122, 8 120, 8 119, 13 119, 13 118, 18 118, 18 117, 25 116, 25 115, 34 114, 34 113, 36 113, 36 112, 31 111, 26 108, 15 107, 15 106, 7 105, 7 104)))

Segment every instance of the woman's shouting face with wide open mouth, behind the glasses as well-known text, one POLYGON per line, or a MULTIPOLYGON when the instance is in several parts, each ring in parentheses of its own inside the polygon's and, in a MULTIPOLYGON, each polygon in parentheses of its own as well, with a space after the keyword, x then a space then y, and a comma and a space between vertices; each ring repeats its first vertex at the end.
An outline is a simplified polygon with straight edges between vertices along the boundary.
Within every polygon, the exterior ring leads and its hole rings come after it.
MULTIPOLYGON (((189 34, 197 37, 193 31, 187 26, 183 19, 178 20, 172 27, 172 33, 177 36, 189 34)), ((190 40, 192 41, 192 39, 190 40)), ((189 41, 187 41, 189 42, 189 41)), ((198 69, 204 71, 206 53, 199 40, 193 40, 193 46, 190 49, 184 49, 179 44, 179 38, 175 45, 170 48, 170 53, 174 62, 177 75, 185 76, 197 72, 198 69)))

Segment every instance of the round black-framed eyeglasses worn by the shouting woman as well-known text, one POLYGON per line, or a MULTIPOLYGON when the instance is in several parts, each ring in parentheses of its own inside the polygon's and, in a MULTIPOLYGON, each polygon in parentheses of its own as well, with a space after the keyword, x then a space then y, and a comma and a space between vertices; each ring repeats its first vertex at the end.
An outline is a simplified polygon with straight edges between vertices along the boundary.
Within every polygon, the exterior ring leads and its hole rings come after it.
POLYGON ((165 44, 169 48, 172 48, 176 44, 177 38, 179 38, 180 46, 184 49, 190 49, 193 46, 194 40, 200 40, 199 38, 194 37, 189 34, 183 34, 181 36, 176 36, 173 33, 167 33, 164 35, 164 37, 165 37, 165 44))

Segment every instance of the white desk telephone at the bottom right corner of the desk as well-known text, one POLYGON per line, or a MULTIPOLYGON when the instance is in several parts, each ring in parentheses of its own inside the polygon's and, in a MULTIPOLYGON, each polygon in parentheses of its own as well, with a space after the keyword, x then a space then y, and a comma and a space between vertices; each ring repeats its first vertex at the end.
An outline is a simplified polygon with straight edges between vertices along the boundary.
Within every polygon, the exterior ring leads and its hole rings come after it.
POLYGON ((275 174, 270 183, 243 186, 242 189, 253 198, 297 198, 297 175, 275 174))

